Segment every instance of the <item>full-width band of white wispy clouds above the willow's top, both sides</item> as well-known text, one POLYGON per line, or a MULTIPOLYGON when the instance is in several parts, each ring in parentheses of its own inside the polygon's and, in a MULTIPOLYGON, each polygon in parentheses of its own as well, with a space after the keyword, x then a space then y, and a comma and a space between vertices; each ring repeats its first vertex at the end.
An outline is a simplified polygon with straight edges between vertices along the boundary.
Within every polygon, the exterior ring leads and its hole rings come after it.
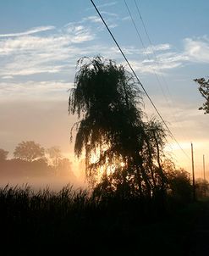
MULTIPOLYGON (((113 19, 118 19, 115 15, 112 16, 113 19)), ((36 74, 66 75, 75 66, 77 59, 86 55, 101 54, 123 62, 117 47, 96 41, 100 35, 96 24, 101 24, 101 20, 97 16, 88 16, 59 29, 49 25, 22 33, 1 35, 0 77, 3 80, 11 80, 15 79, 15 76, 25 75, 29 76, 28 79, 36 74), (34 35, 41 31, 50 32, 47 35, 34 35)), ((112 25, 114 27, 113 22, 112 25)), ((190 62, 209 61, 209 40, 206 36, 184 39, 181 51, 168 43, 148 46, 146 49, 123 45, 121 47, 135 70, 143 74, 162 74, 166 70, 173 70, 190 62)))

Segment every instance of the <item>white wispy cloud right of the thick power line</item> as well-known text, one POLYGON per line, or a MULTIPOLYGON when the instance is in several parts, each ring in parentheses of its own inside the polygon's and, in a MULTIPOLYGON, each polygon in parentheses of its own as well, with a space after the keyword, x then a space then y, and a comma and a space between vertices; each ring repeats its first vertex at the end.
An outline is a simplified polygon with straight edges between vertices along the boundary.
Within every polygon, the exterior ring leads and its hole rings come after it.
MULTIPOLYGON (((134 53, 134 50, 132 50, 134 53)), ((146 58, 134 60, 135 69, 141 73, 165 74, 166 70, 173 70, 189 63, 200 64, 209 61, 209 39, 206 36, 195 39, 186 38, 183 41, 183 49, 178 51, 168 43, 146 47, 140 51, 146 58)))

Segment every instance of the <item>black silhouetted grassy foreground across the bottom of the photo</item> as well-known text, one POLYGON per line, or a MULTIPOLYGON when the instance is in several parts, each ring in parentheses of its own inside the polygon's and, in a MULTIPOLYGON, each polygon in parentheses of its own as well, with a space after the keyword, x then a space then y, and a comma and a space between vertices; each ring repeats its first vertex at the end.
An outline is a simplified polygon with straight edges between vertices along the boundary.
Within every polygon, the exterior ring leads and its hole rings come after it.
POLYGON ((199 202, 176 205, 163 216, 142 214, 137 201, 104 203, 72 186, 60 192, 5 186, 1 250, 3 255, 201 255, 195 254, 194 240, 202 248, 196 231, 208 209, 207 202, 199 202))

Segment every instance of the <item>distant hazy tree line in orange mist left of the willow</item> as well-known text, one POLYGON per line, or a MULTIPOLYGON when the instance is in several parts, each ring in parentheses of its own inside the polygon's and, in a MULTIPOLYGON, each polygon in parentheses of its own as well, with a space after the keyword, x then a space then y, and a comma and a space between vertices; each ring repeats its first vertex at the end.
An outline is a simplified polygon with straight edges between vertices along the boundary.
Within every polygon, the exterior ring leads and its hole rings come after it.
POLYGON ((64 158, 59 147, 45 149, 40 144, 20 142, 14 149, 14 158, 0 148, 0 176, 74 176, 72 163, 64 158))

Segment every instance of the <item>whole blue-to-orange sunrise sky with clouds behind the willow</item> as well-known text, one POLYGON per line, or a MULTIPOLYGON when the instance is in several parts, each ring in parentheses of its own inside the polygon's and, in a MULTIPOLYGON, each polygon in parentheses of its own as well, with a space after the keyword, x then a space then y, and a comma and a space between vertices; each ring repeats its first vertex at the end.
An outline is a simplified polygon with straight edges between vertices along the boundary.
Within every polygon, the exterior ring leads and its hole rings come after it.
MULTIPOLYGON (((203 176, 205 154, 209 178, 209 115, 198 110, 204 99, 193 81, 209 75, 209 2, 94 3, 178 142, 168 136, 168 155, 191 172, 193 142, 195 173, 203 176)), ((35 141, 74 161, 69 89, 77 60, 98 54, 129 70, 90 0, 0 1, 0 148, 9 157, 19 142, 35 141)), ((143 102, 158 118, 146 95, 143 102)))

